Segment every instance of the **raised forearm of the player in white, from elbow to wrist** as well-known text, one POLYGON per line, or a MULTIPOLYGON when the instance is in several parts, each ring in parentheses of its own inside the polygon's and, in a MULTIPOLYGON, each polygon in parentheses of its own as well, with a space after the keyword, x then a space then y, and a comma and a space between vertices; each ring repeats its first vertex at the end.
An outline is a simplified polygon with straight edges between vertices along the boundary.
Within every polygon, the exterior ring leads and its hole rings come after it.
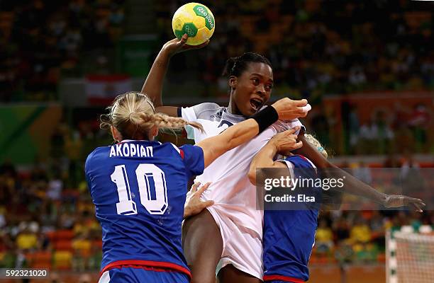
POLYGON ((162 106, 162 85, 169 67, 170 56, 163 47, 155 58, 141 93, 145 93, 155 108, 162 106))

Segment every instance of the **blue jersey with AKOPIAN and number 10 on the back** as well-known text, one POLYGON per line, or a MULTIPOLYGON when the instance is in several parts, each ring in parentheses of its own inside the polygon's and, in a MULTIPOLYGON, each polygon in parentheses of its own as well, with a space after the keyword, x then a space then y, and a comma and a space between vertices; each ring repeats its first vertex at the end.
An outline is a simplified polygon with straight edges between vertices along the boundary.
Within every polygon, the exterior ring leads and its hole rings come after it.
POLYGON ((102 227, 101 273, 141 265, 190 275, 181 225, 187 182, 203 171, 199 146, 123 141, 89 154, 85 172, 102 227))

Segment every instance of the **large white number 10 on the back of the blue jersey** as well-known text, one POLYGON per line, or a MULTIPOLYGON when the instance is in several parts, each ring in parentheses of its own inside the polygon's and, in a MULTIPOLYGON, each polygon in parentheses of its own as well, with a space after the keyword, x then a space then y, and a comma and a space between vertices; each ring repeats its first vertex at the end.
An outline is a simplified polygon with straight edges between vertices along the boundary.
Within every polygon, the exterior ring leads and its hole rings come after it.
MULTIPOLYGON (((118 190, 119 202, 116 203, 118 214, 137 214, 125 165, 115 166, 110 177, 118 190)), ((135 177, 143 207, 150 214, 164 214, 168 206, 165 173, 154 164, 140 164, 135 169, 135 177)))

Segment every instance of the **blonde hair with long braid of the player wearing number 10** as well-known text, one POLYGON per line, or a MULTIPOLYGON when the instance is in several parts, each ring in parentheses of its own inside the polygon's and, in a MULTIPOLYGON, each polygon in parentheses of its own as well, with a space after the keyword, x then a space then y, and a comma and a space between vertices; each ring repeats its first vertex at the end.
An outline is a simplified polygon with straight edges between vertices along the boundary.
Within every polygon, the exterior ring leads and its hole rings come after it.
POLYGON ((197 122, 188 122, 180 117, 170 117, 155 113, 154 105, 148 96, 135 91, 117 96, 107 108, 109 114, 101 115, 101 129, 115 127, 123 139, 149 139, 149 130, 157 126, 159 129, 182 129, 191 125, 204 131, 197 122))

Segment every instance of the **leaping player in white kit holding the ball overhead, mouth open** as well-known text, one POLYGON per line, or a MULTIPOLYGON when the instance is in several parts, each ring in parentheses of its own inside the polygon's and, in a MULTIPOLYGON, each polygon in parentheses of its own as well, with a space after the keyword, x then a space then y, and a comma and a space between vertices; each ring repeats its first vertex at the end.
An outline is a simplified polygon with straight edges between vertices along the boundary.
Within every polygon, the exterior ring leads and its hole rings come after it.
MULTIPOLYGON (((272 91, 273 74, 268 59, 260 54, 245 53, 231 58, 226 64, 226 75, 230 100, 227 108, 214 103, 204 103, 193 108, 163 106, 161 100, 162 81, 169 59, 177 52, 195 49, 185 45, 187 35, 181 40, 167 42, 157 55, 142 92, 153 99, 157 111, 167 115, 183 117, 186 120, 201 122, 206 129, 206 137, 219 134, 230 125, 245 120, 260 110, 272 91)), ((204 44, 206 45, 206 43, 204 44)), ((204 45, 199 45, 204 47, 204 45)), ((294 108, 286 117, 306 116, 306 100, 293 100, 294 108)), ((262 280, 262 214, 256 211, 255 187, 247 178, 250 161, 267 141, 282 129, 301 125, 298 120, 274 124, 249 144, 228 151, 208 167, 200 180, 213 182, 204 197, 213 198, 215 204, 200 214, 187 219, 183 227, 183 247, 187 262, 191 267, 192 282, 215 282, 218 262, 220 282, 261 282, 262 280)), ((304 129, 301 128, 301 133, 304 129)), ((198 132, 190 132, 196 141, 204 138, 198 132)), ((307 142, 304 134, 299 135, 303 146, 299 154, 309 158, 318 168, 333 166, 307 142)), ((292 141, 294 148, 301 143, 292 141)), ((351 175, 345 175, 349 192, 370 197, 386 207, 401 204, 401 197, 384 196, 372 187, 365 185, 351 175)))

